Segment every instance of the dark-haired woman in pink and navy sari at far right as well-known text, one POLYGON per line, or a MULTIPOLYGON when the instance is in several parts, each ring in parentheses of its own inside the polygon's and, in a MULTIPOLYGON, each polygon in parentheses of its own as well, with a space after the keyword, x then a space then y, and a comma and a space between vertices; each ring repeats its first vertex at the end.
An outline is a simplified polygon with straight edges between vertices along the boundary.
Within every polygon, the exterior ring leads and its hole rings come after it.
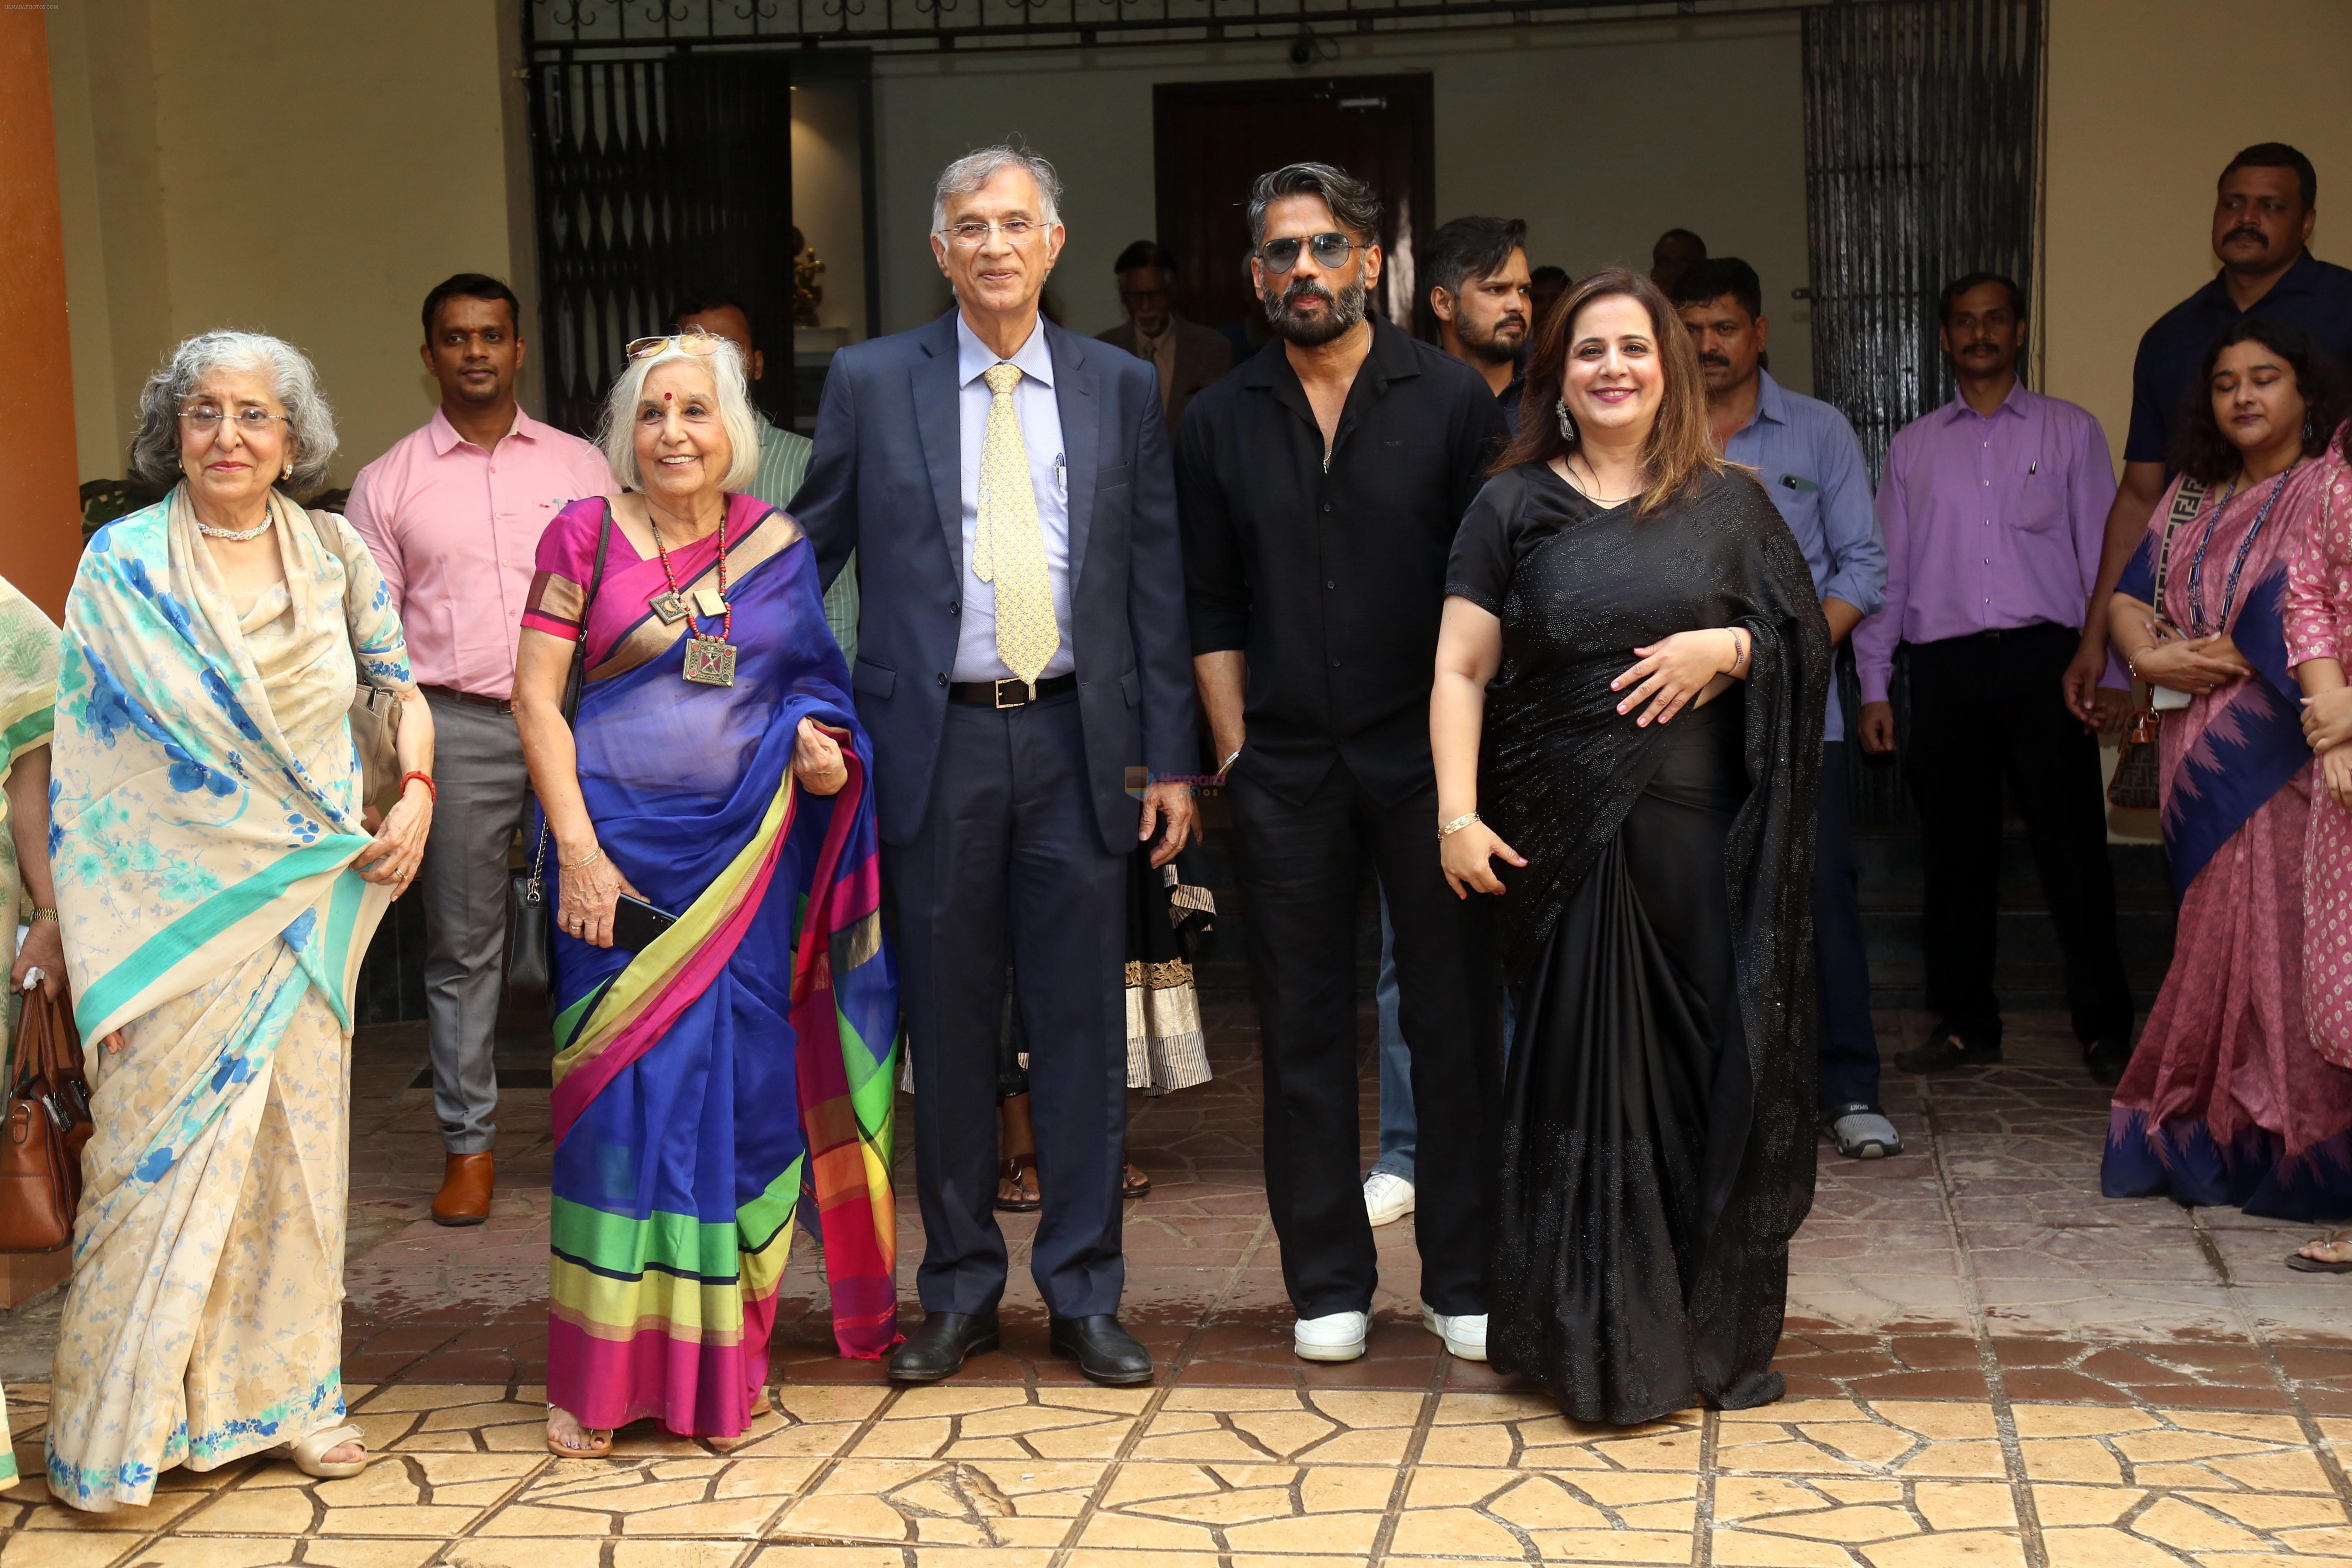
POLYGON ((2157 778, 2180 929, 2114 1086, 2100 1187, 2336 1220, 2352 1215, 2352 1070, 2312 1046, 2303 1001, 2317 773, 2303 698, 2319 672, 2291 646, 2284 599, 2343 383, 2300 327, 2249 315, 2194 386, 2180 477, 2110 621, 2133 677, 2171 708, 2157 778))

